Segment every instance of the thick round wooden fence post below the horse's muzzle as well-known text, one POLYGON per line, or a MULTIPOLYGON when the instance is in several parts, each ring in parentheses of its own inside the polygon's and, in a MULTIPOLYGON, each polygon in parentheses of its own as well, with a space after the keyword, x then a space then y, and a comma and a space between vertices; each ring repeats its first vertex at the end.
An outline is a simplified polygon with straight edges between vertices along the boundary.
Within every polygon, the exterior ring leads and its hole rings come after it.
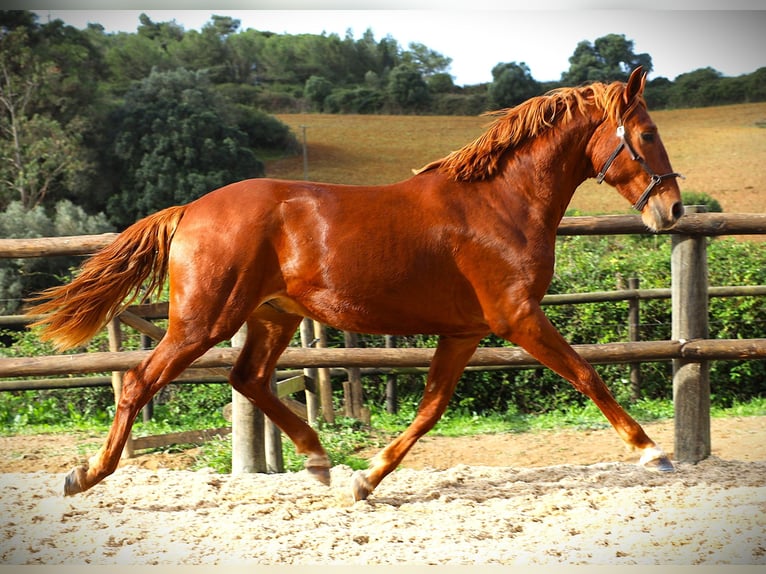
MULTIPOLYGON (((704 213, 704 206, 687 206, 704 213)), ((673 235, 670 261, 672 338, 708 336, 707 238, 673 235)), ((710 456, 710 374, 705 360, 673 360, 674 457, 696 463, 710 456)))

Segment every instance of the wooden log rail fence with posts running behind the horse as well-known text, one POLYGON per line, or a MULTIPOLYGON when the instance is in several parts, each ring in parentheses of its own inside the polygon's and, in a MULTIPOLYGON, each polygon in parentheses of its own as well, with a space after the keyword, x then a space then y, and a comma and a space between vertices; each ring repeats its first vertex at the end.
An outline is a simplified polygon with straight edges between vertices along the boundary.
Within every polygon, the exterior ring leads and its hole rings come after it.
MULTIPOLYGON (((602 345, 577 345, 577 351, 593 364, 625 363, 636 364, 647 361, 673 361, 673 400, 675 407, 675 458, 682 461, 699 461, 710 454, 710 392, 708 380, 708 361, 741 360, 766 358, 766 339, 752 340, 709 340, 707 339, 707 301, 716 294, 721 296, 751 295, 763 296, 763 286, 709 288, 707 285, 706 237, 718 235, 753 235, 766 234, 766 214, 721 214, 691 213, 685 215, 671 231, 671 289, 639 290, 627 289, 616 292, 602 292, 575 295, 551 295, 546 297, 546 304, 572 303, 574 298, 581 301, 607 301, 620 299, 667 297, 672 300, 673 326, 672 340, 611 343, 602 345), (668 293, 669 291, 669 293, 668 293)), ((638 216, 600 216, 600 217, 565 217, 559 227, 559 235, 612 235, 645 234, 646 228, 638 216)), ((54 255, 87 255, 114 240, 116 234, 99 236, 41 238, 41 239, 0 239, 0 257, 40 257, 54 255)), ((638 255, 640 257, 640 255, 638 255)), ((128 310, 120 317, 121 321, 139 331, 159 338, 161 329, 140 314, 152 316, 161 312, 161 306, 128 310)), ((15 318, 12 320, 19 320, 15 318)), ((119 377, 125 371, 140 362, 150 351, 119 351, 118 321, 111 324, 111 345, 114 350, 108 353, 83 353, 57 355, 49 357, 23 357, 0 359, 0 378, 24 376, 51 376, 112 371, 112 385, 119 392, 119 377)), ((278 362, 280 369, 301 369, 309 371, 308 377, 293 378, 289 383, 276 384, 280 395, 287 395, 302 390, 303 381, 316 381, 308 389, 307 418, 316 412, 320 404, 323 414, 332 411, 329 395, 330 368, 343 368, 350 374, 349 379, 358 380, 360 369, 370 368, 426 368, 432 356, 432 349, 375 348, 375 349, 326 349, 322 347, 322 332, 317 325, 304 323, 301 329, 304 345, 317 341, 319 348, 289 348, 278 362), (310 371, 317 369, 317 371, 310 371), (319 397, 316 395, 319 394, 319 397)), ((353 340, 347 343, 353 344, 353 340)), ((231 367, 238 355, 237 348, 214 348, 192 365, 194 369, 205 369, 207 375, 223 380, 227 368, 231 367)), ((525 351, 513 347, 480 348, 476 351, 470 367, 523 367, 537 366, 539 363, 525 351)), ((195 376, 199 377, 199 371, 195 376)), ((35 388, 34 381, 31 388, 35 388)), ((41 385, 40 383, 37 383, 41 385)), ((0 381, 0 390, 18 388, 18 382, 0 381), (16 386, 13 386, 16 385, 16 386)), ((40 386, 36 388, 41 388, 40 386)), ((353 389, 348 390, 351 411, 359 414, 360 395, 354 397, 353 389)), ((249 405, 249 403, 247 403, 249 405)), ((297 405, 293 405, 296 408, 297 405)), ((242 441, 245 450, 258 451, 253 457, 242 463, 252 468, 248 470, 264 471, 280 469, 279 433, 264 422, 262 415, 240 413, 237 396, 234 395, 232 426, 235 445, 242 441), (245 417, 238 422, 239 416, 245 417), (237 427, 248 427, 249 432, 237 439, 237 427), (265 429, 265 430, 264 430, 265 429), (264 432, 268 440, 264 439, 264 432), (270 453, 270 457, 267 456, 270 453)), ((315 415, 314 415, 315 416, 315 415)), ((200 431, 205 433, 207 431, 200 431)), ((225 432, 217 429, 216 432, 225 432)), ((178 441, 178 436, 170 437, 178 441)), ((157 446, 159 439, 137 439, 141 448, 157 446)), ((136 448, 134 442, 133 448, 136 448)), ((235 446, 235 455, 237 449, 235 446)))

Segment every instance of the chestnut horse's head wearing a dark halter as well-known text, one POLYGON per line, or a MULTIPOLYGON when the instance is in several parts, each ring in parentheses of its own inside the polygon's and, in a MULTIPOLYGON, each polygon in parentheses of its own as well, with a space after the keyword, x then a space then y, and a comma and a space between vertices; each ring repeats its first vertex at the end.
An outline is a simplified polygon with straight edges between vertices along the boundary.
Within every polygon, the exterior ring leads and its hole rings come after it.
POLYGON ((684 213, 676 178, 670 167, 657 126, 649 117, 642 94, 646 74, 633 70, 617 112, 596 129, 590 142, 590 158, 596 181, 617 188, 641 212, 653 231, 669 229, 684 213))

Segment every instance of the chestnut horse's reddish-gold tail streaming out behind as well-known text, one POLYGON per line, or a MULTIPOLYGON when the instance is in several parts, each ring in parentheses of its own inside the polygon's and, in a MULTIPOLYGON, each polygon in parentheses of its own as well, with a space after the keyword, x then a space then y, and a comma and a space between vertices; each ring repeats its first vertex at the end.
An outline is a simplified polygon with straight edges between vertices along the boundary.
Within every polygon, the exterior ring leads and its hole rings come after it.
POLYGON ((44 315, 41 339, 58 349, 87 343, 147 282, 150 295, 161 289, 168 272, 170 242, 185 206, 169 207, 137 221, 80 268, 67 285, 51 287, 30 299, 27 315, 44 315))

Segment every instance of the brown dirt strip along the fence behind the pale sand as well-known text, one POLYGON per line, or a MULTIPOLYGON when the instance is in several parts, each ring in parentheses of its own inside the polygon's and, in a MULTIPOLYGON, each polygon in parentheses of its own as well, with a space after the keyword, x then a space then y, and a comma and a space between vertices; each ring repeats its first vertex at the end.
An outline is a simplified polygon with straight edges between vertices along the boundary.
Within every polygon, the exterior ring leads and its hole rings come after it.
MULTIPOLYGON (((672 456, 673 421, 644 425, 644 429, 672 456)), ((766 460, 766 417, 712 419, 713 455, 723 460, 766 460)), ((68 472, 101 446, 100 434, 22 435, 0 437, 0 472, 68 472)), ((372 457, 377 449, 359 453, 372 457)), ((188 470, 198 448, 170 449, 139 454, 121 465, 150 470, 188 470)), ((447 469, 458 464, 538 467, 559 464, 635 462, 611 428, 506 433, 467 437, 426 435, 402 463, 403 468, 447 469)))

